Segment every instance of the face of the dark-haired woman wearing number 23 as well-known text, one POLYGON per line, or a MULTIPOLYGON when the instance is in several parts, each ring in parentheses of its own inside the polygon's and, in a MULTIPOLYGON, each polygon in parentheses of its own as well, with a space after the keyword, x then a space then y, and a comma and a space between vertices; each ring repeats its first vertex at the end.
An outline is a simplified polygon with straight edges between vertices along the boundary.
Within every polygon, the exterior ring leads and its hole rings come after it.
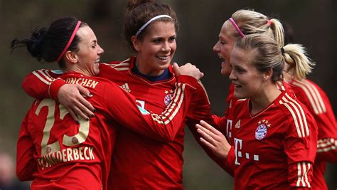
POLYGON ((104 50, 98 45, 94 31, 89 26, 78 29, 76 35, 80 38, 77 57, 77 69, 84 75, 95 76, 100 73, 100 56, 104 50))

